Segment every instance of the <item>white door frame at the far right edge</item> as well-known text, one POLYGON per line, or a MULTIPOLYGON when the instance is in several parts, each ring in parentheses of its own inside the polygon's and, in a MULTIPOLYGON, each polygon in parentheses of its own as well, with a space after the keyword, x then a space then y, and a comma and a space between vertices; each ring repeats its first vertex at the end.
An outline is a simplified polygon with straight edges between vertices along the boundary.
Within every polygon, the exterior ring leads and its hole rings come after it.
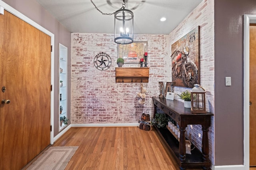
POLYGON ((256 15, 244 15, 244 167, 250 168, 250 23, 256 15))

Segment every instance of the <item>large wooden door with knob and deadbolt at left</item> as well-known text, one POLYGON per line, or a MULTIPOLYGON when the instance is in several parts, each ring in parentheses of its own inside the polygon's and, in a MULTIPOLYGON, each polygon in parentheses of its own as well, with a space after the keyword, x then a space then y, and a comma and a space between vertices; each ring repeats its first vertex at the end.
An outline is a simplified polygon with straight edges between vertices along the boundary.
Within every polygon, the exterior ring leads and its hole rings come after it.
POLYGON ((0 170, 20 170, 50 145, 51 38, 7 11, 0 23, 0 170))

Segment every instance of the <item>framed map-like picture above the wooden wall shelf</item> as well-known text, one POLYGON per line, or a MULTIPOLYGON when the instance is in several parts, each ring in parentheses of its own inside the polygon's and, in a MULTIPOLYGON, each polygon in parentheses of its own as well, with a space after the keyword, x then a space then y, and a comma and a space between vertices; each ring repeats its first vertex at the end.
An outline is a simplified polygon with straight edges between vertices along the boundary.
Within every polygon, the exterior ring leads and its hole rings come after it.
POLYGON ((124 59, 124 64, 139 64, 148 52, 148 41, 134 41, 131 44, 118 44, 117 57, 124 59))

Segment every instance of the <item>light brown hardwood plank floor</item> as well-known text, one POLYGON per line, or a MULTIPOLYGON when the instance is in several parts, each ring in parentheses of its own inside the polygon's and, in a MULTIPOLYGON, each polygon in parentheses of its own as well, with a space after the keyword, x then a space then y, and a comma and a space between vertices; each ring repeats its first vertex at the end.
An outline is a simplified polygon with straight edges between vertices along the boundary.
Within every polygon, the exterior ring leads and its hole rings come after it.
POLYGON ((179 169, 157 133, 138 127, 72 127, 53 146, 79 146, 65 170, 179 169))

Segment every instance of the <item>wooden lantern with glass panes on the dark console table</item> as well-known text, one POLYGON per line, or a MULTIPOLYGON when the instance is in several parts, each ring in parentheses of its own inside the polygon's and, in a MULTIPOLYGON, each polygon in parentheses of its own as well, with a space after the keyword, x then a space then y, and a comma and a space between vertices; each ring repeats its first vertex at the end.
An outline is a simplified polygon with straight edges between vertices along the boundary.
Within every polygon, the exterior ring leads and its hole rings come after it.
POLYGON ((191 112, 206 113, 204 88, 200 84, 195 84, 191 90, 191 112))

